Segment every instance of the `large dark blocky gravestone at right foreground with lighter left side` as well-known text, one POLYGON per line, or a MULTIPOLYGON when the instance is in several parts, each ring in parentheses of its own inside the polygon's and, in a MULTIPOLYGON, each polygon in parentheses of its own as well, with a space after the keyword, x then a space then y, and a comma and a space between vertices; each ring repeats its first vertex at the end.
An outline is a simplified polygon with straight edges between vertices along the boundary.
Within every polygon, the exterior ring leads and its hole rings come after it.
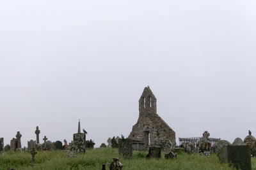
POLYGON ((251 153, 248 145, 223 146, 218 155, 221 163, 228 163, 241 170, 251 170, 251 153))

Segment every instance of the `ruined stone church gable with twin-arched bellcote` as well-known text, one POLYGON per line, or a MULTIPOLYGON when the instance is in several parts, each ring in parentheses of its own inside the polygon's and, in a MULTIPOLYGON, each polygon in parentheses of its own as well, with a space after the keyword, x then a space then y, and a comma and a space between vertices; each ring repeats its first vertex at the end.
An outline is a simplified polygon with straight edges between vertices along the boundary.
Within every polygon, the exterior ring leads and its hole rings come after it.
POLYGON ((133 141, 143 142, 147 148, 148 143, 153 143, 157 139, 170 139, 173 146, 175 142, 175 132, 157 115, 156 97, 149 87, 145 87, 139 100, 140 115, 138 122, 133 125, 132 132, 128 138, 133 141))

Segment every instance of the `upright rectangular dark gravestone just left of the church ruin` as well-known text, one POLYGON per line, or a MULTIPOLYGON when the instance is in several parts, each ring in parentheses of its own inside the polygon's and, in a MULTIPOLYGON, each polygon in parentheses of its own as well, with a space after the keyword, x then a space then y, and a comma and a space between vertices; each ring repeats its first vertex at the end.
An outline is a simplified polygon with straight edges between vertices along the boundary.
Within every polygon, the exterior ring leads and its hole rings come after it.
POLYGON ((118 139, 118 153, 124 158, 132 157, 132 139, 118 139))

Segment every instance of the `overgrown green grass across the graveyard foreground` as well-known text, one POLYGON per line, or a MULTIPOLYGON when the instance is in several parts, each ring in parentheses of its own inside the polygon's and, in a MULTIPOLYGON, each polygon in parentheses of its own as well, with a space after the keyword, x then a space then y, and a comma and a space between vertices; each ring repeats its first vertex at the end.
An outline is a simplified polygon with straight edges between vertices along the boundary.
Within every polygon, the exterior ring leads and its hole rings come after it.
MULTIPOLYGON (((133 152, 132 159, 124 159, 118 155, 117 149, 96 148, 86 150, 86 154, 77 154, 68 158, 67 152, 38 152, 35 155, 34 167, 29 167, 31 154, 29 152, 6 152, 0 155, 0 169, 102 169, 102 164, 111 162, 113 157, 119 157, 124 164, 123 170, 136 169, 234 169, 227 164, 220 164, 217 155, 211 157, 193 153, 180 153, 177 159, 154 160, 145 159, 147 152, 133 152)), ((106 169, 109 169, 106 165, 106 169)), ((252 158, 252 169, 256 169, 256 158, 252 158)))

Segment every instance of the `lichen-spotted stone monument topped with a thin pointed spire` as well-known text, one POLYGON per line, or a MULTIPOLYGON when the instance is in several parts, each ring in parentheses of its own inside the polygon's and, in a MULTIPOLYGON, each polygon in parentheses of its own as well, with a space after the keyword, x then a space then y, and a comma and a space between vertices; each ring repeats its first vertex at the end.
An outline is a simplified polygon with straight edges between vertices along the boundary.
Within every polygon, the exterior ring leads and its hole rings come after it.
POLYGON ((73 134, 73 151, 76 153, 85 153, 86 150, 86 133, 81 133, 80 120, 78 122, 78 130, 73 134))

